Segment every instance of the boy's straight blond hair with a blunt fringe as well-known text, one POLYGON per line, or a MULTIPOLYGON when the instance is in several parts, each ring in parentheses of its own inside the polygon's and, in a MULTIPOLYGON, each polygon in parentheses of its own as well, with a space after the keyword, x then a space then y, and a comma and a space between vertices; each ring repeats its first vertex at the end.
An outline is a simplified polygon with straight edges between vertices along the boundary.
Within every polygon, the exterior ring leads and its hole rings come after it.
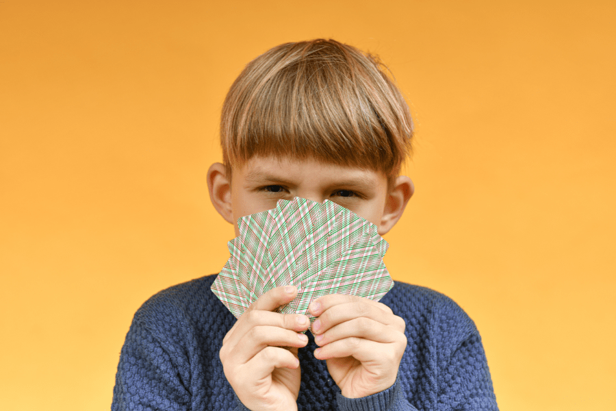
POLYGON ((387 72, 376 56, 335 40, 259 55, 222 107, 227 175, 255 155, 274 155, 382 171, 391 184, 411 151, 413 124, 387 72))

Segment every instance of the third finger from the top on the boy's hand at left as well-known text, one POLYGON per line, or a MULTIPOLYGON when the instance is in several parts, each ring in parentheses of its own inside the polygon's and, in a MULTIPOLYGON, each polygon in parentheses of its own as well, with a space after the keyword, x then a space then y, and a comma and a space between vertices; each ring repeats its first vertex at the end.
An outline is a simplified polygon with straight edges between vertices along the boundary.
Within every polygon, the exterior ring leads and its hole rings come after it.
POLYGON ((305 347, 308 337, 280 327, 257 326, 246 332, 233 349, 235 361, 245 364, 268 347, 305 347))

